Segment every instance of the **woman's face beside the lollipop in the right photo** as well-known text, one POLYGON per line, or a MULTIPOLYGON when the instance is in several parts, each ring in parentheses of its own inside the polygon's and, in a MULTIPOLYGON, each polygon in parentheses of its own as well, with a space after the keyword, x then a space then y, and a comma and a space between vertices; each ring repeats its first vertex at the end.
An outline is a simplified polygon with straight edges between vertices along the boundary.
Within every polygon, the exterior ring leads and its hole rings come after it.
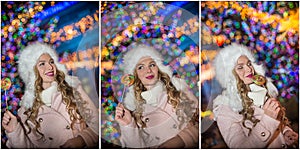
POLYGON ((253 82, 254 68, 247 56, 243 55, 238 58, 234 70, 245 84, 251 84, 253 82))

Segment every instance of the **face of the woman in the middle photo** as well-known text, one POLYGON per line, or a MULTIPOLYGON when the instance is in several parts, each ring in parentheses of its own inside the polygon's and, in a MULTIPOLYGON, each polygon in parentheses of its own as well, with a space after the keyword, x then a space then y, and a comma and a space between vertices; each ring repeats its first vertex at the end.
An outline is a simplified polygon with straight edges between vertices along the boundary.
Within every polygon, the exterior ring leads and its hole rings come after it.
POLYGON ((158 67, 155 61, 150 57, 141 58, 135 70, 138 78, 148 90, 158 81, 158 67))

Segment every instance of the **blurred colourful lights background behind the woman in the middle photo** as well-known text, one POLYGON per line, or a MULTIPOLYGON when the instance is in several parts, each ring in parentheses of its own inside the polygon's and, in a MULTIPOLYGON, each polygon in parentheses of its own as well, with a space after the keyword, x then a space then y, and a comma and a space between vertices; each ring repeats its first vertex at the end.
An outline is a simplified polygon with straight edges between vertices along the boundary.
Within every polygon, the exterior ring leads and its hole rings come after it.
POLYGON ((114 111, 124 85, 122 56, 155 47, 199 97, 199 2, 101 2, 101 144, 119 148, 114 111))

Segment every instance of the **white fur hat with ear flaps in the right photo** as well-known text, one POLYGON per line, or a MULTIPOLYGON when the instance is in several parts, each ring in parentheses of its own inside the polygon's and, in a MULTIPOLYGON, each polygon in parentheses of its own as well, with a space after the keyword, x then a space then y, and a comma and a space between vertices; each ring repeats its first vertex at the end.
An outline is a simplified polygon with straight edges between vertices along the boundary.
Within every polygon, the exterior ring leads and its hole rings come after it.
MULTIPOLYGON (((214 102, 214 107, 218 104, 226 104, 229 105, 231 108, 234 108, 236 111, 242 110, 242 100, 238 94, 237 90, 237 81, 232 73, 232 70, 234 69, 237 60, 240 56, 245 55, 248 57, 248 59, 251 61, 252 66, 255 70, 255 72, 259 75, 265 76, 265 69, 262 65, 258 65, 255 63, 255 57, 251 53, 250 50, 248 50, 247 47, 243 45, 239 45, 236 43, 233 43, 219 51, 217 56, 215 57, 213 61, 213 65, 215 68, 215 77, 221 84, 222 88, 224 88, 224 91, 222 93, 222 99, 223 102, 218 101, 219 98, 216 98, 216 102, 214 102), (226 98, 225 98, 226 97, 226 98), (230 101, 230 102, 225 102, 230 101)), ((270 78, 267 78, 267 88, 268 93, 274 97, 278 95, 277 88, 271 83, 270 78)))

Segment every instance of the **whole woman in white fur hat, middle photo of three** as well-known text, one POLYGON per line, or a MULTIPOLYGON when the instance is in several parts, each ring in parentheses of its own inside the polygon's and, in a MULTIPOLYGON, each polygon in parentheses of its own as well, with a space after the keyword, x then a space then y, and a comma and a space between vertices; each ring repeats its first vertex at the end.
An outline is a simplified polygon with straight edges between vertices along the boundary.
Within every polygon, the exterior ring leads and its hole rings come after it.
POLYGON ((197 148, 198 99, 184 80, 172 77, 157 50, 139 45, 124 56, 125 74, 135 76, 115 120, 127 148, 197 148))

